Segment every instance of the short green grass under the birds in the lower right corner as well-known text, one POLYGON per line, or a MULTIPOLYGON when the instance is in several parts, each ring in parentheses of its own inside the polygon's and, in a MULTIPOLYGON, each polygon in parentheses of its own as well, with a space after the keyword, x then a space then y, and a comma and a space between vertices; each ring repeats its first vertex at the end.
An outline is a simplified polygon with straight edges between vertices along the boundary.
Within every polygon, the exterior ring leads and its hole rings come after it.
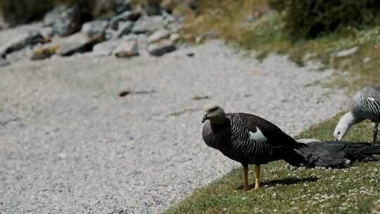
MULTIPOLYGON (((312 126, 298 137, 332 139, 340 115, 312 126)), ((346 140, 369 141, 370 133, 369 122, 362 122, 350 130, 346 140)), ((242 170, 237 168, 196 189, 165 213, 369 213, 380 202, 379 178, 380 162, 331 170, 293 168, 284 161, 275 161, 262 165, 258 191, 242 190, 242 170)), ((253 173, 249 180, 252 188, 253 173)))

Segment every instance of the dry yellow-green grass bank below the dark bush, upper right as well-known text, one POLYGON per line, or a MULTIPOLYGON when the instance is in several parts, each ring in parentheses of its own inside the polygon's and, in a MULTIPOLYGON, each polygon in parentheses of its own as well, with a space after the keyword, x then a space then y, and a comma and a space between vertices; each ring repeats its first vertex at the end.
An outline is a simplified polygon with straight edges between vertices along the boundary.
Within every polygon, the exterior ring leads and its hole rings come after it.
POLYGON ((211 35, 239 48, 257 51, 261 60, 270 53, 280 53, 300 66, 310 53, 309 61, 320 61, 324 68, 336 69, 334 80, 326 86, 349 85, 350 94, 380 82, 380 18, 360 30, 346 27, 317 39, 293 41, 284 29, 284 14, 270 11, 266 0, 209 0, 201 4, 197 13, 186 17, 182 35, 189 41, 211 35), (358 51, 350 56, 334 56, 354 46, 358 51), (341 71, 347 71, 348 77, 341 71))

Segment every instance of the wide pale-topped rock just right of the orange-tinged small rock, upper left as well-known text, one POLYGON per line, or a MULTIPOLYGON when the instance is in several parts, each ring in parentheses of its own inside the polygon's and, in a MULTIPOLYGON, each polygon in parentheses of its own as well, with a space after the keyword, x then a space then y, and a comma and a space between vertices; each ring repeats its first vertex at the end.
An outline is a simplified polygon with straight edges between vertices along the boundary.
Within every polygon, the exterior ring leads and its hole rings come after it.
POLYGON ((71 56, 73 53, 91 51, 92 47, 102 42, 103 39, 103 34, 96 34, 94 37, 89 37, 89 35, 81 32, 72 34, 56 44, 58 46, 57 53, 61 56, 71 56))

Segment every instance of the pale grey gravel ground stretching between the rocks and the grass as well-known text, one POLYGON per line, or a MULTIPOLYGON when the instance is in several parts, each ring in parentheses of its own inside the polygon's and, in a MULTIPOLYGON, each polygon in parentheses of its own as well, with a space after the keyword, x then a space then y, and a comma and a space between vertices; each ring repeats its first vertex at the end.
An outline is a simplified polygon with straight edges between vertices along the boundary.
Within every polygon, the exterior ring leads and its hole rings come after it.
POLYGON ((330 77, 216 41, 0 68, 0 213, 160 213, 237 165, 203 143, 206 103, 297 134, 346 106, 313 84, 330 77))

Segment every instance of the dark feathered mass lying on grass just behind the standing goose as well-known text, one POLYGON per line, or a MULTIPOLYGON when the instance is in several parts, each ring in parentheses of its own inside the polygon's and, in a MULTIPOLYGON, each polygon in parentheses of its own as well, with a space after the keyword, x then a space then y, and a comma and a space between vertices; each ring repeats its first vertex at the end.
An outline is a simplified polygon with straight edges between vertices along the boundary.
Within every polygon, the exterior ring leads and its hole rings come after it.
POLYGON ((307 168, 346 167, 353 161, 379 160, 380 146, 368 143, 347 143, 341 141, 315 141, 293 150, 293 157, 284 158, 291 165, 307 168))

